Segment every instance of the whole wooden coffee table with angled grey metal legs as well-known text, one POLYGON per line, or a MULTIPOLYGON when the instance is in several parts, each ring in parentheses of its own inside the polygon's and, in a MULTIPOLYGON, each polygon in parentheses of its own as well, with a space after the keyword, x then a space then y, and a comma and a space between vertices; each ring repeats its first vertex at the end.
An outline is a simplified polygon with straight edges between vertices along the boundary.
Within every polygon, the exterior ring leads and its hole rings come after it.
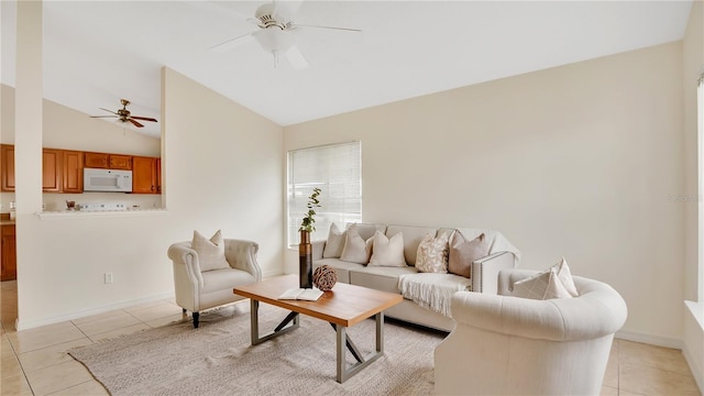
POLYGON ((250 298, 252 345, 297 329, 299 314, 302 314, 329 322, 337 331, 337 381, 339 383, 345 382, 384 354, 384 309, 399 304, 403 300, 400 295, 338 283, 332 290, 326 292, 317 301, 278 299, 286 289, 295 287, 298 287, 298 275, 279 276, 252 285, 238 286, 234 289, 234 294, 250 298), (290 310, 274 331, 264 336, 260 336, 260 301, 290 310), (376 319, 376 351, 362 356, 348 337, 346 328, 372 316, 376 319), (356 359, 356 363, 349 367, 344 359, 345 345, 356 359))

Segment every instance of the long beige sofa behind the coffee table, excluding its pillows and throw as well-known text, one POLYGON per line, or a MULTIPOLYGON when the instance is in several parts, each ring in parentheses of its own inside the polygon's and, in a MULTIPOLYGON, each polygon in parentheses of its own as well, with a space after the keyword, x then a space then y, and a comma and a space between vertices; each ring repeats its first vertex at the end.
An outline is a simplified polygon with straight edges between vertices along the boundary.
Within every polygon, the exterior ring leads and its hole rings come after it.
MULTIPOLYGON (((518 250, 501 234, 501 232, 481 229, 459 229, 468 238, 474 238, 484 233, 487 238, 487 243, 490 243, 490 254, 472 263, 471 278, 468 279, 463 276, 453 274, 419 274, 415 264, 418 245, 422 238, 427 234, 436 237, 442 232, 452 232, 455 229, 436 229, 428 227, 394 224, 355 224, 355 228, 360 237, 364 240, 372 238, 376 230, 384 233, 387 238, 392 238, 397 233, 403 233, 404 257, 407 265, 403 267, 370 266, 345 262, 334 256, 323 257, 327 241, 316 241, 314 242, 312 250, 314 270, 321 265, 329 265, 336 268, 338 282, 402 295, 404 295, 399 288, 399 278, 402 276, 431 275, 431 277, 441 279, 442 286, 449 288, 443 290, 447 295, 447 298, 444 299, 447 300, 448 307, 452 293, 457 290, 474 290, 496 294, 498 272, 501 270, 514 268, 520 254, 518 250)), ((405 297, 406 298, 404 298, 402 304, 389 308, 385 311, 385 315, 391 318, 443 331, 451 331, 454 328, 454 321, 451 317, 447 316, 447 312, 438 310, 437 307, 429 307, 422 304, 422 301, 419 302, 417 300, 411 300, 407 296, 405 297)))

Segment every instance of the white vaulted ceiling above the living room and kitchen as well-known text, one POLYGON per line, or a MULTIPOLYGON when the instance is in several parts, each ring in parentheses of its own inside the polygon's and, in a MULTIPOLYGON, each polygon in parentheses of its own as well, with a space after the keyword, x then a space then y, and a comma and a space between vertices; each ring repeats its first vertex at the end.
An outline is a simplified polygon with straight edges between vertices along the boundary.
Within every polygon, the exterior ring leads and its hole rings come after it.
MULTIPOLYGON (((264 1, 45 1, 45 98, 100 114, 132 101, 160 118, 168 66, 280 124, 682 38, 691 1, 304 1, 294 70, 256 42, 209 48, 257 28, 264 1)), ((14 86, 16 7, 1 1, 3 84, 14 86)), ((158 135, 158 124, 143 131, 158 135)))

